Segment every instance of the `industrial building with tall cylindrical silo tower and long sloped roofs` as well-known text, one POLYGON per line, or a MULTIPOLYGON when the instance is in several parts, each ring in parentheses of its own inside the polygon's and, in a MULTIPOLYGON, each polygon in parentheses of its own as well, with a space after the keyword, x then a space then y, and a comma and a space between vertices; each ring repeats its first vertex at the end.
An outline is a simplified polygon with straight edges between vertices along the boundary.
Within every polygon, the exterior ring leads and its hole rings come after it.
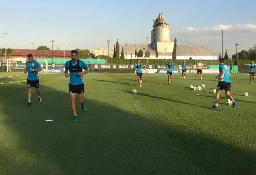
MULTIPOLYGON (((168 27, 168 23, 164 20, 163 14, 160 13, 157 18, 153 19, 153 29, 151 31, 151 43, 150 44, 126 44, 126 57, 127 59, 135 58, 135 50, 137 53, 140 49, 143 50, 143 57, 147 51, 150 50, 151 59, 169 59, 172 58, 172 51, 174 47, 174 42, 172 42, 172 29, 168 27), (156 45, 158 51, 158 58, 156 58, 156 45)), ((179 39, 179 38, 178 38, 179 39)), ((125 54, 125 44, 120 44, 121 49, 124 47, 125 54)), ((217 59, 217 56, 213 54, 212 50, 208 49, 206 46, 196 46, 196 45, 177 45, 177 59, 189 59, 192 55, 193 59, 204 59, 211 60, 217 59), (192 54, 191 54, 192 52, 192 54)))

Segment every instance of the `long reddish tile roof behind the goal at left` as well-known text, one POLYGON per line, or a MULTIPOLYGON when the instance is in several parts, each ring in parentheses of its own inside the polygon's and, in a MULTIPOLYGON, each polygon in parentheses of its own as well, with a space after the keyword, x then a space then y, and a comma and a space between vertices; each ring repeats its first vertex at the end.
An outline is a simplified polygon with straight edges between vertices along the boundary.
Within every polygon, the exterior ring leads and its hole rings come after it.
MULTIPOLYGON (((70 56, 71 50, 65 50, 65 55, 70 56)), ((58 50, 34 50, 34 56, 58 56, 58 50)), ((33 54, 32 49, 13 49, 12 56, 27 56, 28 54, 33 54)), ((1 52, 0 52, 1 55, 1 52)), ((59 57, 64 57, 64 50, 59 50, 59 57)))

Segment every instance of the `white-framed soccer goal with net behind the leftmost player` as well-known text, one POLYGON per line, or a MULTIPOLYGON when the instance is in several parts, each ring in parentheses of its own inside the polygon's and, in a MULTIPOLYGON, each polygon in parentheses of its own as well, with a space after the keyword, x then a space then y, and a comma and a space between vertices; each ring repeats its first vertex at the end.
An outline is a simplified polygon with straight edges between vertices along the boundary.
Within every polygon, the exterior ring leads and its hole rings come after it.
MULTIPOLYGON (((27 68, 26 62, 28 60, 24 59, 7 59, 6 62, 6 72, 24 72, 27 68)), ((42 68, 41 72, 48 72, 48 62, 47 60, 35 60, 42 68)))

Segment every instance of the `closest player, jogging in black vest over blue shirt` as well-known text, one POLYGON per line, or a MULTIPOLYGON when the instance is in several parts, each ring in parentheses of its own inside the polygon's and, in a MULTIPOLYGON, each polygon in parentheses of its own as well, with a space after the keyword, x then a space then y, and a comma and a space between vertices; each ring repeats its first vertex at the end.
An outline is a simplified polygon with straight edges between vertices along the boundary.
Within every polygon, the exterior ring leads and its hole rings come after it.
POLYGON ((77 51, 71 50, 71 60, 67 61, 65 64, 65 76, 69 78, 68 91, 71 101, 71 110, 74 113, 73 122, 78 120, 76 115, 76 104, 75 98, 78 95, 78 102, 81 104, 83 112, 86 111, 84 105, 84 78, 83 75, 88 73, 88 67, 85 65, 84 61, 77 59, 77 51), (84 72, 83 72, 84 69, 84 72), (68 75, 69 70, 69 75, 68 75))

